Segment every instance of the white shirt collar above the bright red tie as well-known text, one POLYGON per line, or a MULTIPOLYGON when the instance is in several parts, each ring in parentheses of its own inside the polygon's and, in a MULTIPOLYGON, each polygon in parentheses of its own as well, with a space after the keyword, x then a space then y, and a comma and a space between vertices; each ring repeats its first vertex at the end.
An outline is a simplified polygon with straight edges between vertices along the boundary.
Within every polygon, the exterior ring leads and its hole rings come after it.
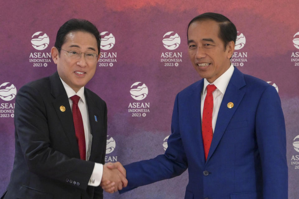
MULTIPOLYGON (((224 95, 226 87, 230 81, 231 76, 233 75, 235 68, 233 64, 230 64, 230 68, 228 68, 219 78, 217 78, 213 83, 217 89, 224 95)), ((209 85, 210 83, 206 78, 204 79, 204 84, 203 84, 203 89, 202 89, 202 94, 206 92, 206 86, 209 85)))

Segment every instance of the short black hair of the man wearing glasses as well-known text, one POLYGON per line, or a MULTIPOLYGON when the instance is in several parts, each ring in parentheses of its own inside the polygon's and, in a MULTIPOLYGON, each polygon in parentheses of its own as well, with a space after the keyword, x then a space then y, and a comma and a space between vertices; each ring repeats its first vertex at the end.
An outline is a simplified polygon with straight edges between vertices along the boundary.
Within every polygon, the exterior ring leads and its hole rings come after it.
POLYGON ((95 36, 97 40, 97 50, 98 54, 100 54, 100 44, 101 44, 101 36, 97 27, 93 25, 91 22, 84 20, 84 19, 70 19, 69 21, 65 22, 57 31, 55 47, 58 49, 60 53, 61 46, 65 42, 65 36, 72 31, 83 31, 88 32, 95 36))

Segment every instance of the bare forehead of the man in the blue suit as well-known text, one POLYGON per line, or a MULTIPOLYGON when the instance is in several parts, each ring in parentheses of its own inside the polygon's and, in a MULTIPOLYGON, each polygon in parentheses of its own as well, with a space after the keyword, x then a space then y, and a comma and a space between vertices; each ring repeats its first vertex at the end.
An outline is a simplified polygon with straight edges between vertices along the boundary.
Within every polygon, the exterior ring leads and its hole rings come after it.
POLYGON ((219 38, 219 23, 214 20, 194 21, 188 28, 188 39, 219 38))

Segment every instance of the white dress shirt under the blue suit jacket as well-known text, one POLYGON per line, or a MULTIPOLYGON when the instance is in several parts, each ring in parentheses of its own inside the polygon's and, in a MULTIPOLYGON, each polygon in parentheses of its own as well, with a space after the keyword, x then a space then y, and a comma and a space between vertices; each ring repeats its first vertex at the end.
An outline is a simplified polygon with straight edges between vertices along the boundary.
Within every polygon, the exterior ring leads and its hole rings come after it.
MULTIPOLYGON (((227 69, 213 83, 211 83, 216 86, 216 90, 212 93, 213 94, 213 102, 214 102, 213 113, 212 113, 213 134, 214 134, 215 126, 216 126, 218 111, 219 111, 226 87, 230 81, 231 76, 233 75, 234 69, 235 68, 234 68, 233 64, 230 64, 230 68, 227 69)), ((202 111, 203 111, 203 105, 204 105, 205 98, 206 98, 206 86, 209 84, 210 83, 206 79, 204 79, 204 85, 203 85, 203 89, 202 89, 202 98, 201 98, 201 116, 202 116, 202 111)))

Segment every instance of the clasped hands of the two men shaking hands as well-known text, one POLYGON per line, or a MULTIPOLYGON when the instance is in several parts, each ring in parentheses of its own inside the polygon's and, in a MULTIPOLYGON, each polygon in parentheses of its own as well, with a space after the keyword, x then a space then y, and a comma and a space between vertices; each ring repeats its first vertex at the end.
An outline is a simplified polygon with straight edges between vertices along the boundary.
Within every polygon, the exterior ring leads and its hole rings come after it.
POLYGON ((128 180, 126 179, 126 169, 120 162, 107 163, 103 165, 103 175, 100 186, 108 193, 114 193, 126 187, 128 180))

